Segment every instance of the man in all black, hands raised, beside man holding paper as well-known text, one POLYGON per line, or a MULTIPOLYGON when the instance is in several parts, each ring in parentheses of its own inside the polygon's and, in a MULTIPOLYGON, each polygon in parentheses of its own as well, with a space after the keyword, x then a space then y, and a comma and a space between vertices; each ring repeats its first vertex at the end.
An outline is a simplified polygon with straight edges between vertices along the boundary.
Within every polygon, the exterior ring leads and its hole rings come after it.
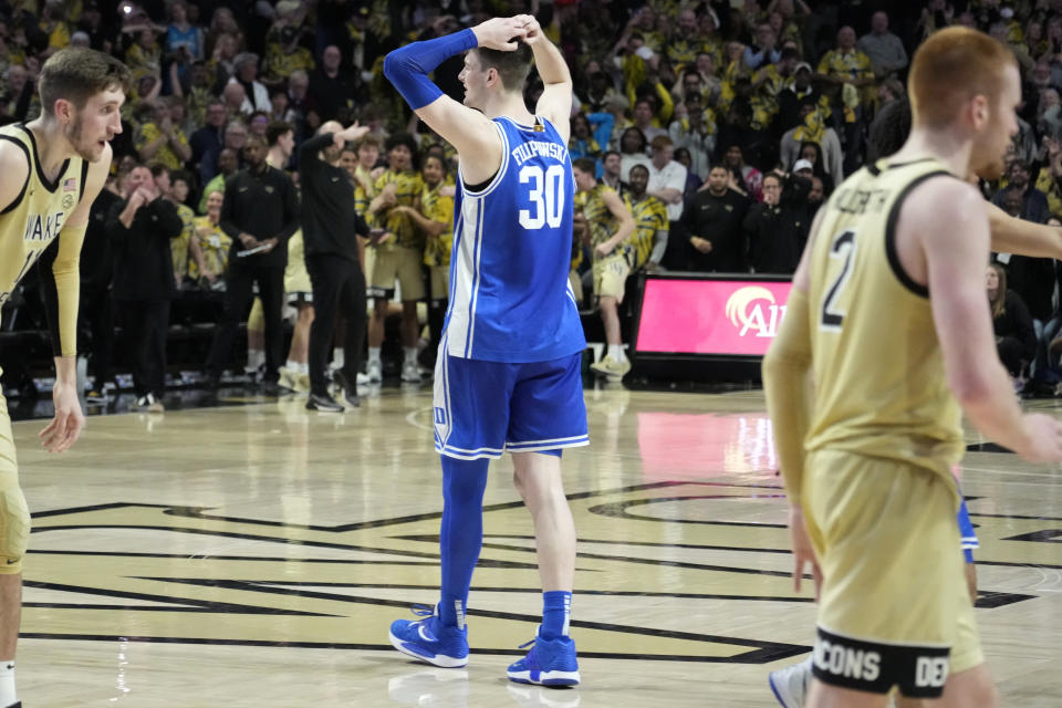
POLYGON ((329 121, 317 135, 299 148, 302 183, 302 237, 306 270, 313 287, 315 316, 310 327, 310 398, 306 408, 340 413, 343 404, 329 395, 325 377, 329 350, 335 329, 336 310, 347 320, 343 345, 344 365, 335 371, 335 383, 348 406, 357 406, 357 372, 362 368, 365 343, 365 275, 357 257, 357 236, 368 237, 365 220, 354 209, 354 184, 340 167, 345 143, 368 133, 354 123, 348 128, 329 121))

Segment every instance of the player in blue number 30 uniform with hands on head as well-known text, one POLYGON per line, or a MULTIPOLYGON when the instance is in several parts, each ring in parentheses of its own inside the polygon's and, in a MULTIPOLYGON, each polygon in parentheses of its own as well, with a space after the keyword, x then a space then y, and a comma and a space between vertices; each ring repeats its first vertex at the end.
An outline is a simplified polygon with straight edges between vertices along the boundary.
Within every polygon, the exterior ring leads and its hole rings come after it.
POLYGON ((423 620, 393 623, 391 642, 436 666, 468 662, 465 616, 482 543, 487 466, 508 450, 534 520, 544 593, 533 647, 509 667, 509 678, 571 686, 579 683, 568 635, 575 527, 561 450, 589 444, 580 377, 586 343, 568 284, 571 74, 531 15, 496 18, 409 44, 387 55, 384 73, 460 160, 450 304, 435 369, 441 598, 423 620), (461 52, 465 105, 428 80, 461 52), (534 114, 522 93, 532 59, 545 85, 534 114))

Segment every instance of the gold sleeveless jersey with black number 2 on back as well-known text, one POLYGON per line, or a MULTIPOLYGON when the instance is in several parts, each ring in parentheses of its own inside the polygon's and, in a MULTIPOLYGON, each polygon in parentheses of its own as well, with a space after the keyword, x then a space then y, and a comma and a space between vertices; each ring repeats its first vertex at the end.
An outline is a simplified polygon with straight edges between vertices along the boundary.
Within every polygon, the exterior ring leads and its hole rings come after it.
POLYGON ((896 459, 946 475, 962 454, 929 292, 904 271, 896 222, 935 159, 881 160, 826 204, 811 252, 814 409, 806 449, 896 459))

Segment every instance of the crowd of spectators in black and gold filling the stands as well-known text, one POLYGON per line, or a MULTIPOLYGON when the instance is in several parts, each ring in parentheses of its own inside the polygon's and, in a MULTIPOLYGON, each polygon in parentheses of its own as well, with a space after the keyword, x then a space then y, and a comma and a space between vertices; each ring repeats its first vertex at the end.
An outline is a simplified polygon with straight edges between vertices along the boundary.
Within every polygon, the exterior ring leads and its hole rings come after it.
MULTIPOLYGON (((1021 129, 1003 179, 982 185, 986 197, 1035 221, 1062 214, 1062 0, 6 1, 0 121, 27 121, 40 112, 34 83, 54 51, 86 45, 122 59, 135 83, 122 111, 123 133, 113 142, 108 188, 126 211, 148 197, 175 207, 183 230, 165 240, 178 299, 231 284, 226 249, 241 247, 240 233, 220 215, 231 212, 229 202, 238 198, 232 186, 257 168, 254 153, 272 146, 275 126, 291 126, 294 146, 284 167, 295 184, 298 146, 323 123, 368 126, 344 153, 358 209, 383 235, 368 243, 365 263, 373 302, 368 362, 378 367, 383 317, 397 296, 404 301, 400 340, 408 366, 418 333, 416 302, 433 301, 438 313, 436 295, 444 289, 425 282, 445 270, 448 258, 438 240, 445 209, 426 215, 421 197, 430 192, 435 205, 450 196, 456 166, 454 150, 410 116, 385 80, 383 58, 409 41, 521 12, 534 13, 568 59, 575 92, 570 153, 592 160, 597 184, 615 191, 635 217, 625 249, 633 271, 791 273, 819 206, 865 164, 875 116, 904 97, 908 58, 949 24, 975 27, 1007 43, 1022 72, 1021 129), (438 159, 426 159, 429 154, 438 159), (425 164, 433 165, 428 191, 425 164), (632 200, 635 166, 644 170, 632 200), (150 185, 145 167, 154 176, 150 185), (646 205, 648 198, 659 205, 646 205), (407 257, 419 268, 410 270, 407 257)), ((456 56, 434 74, 457 100, 460 67, 456 56)), ((531 105, 539 91, 541 84, 530 81, 531 105)), ((577 197, 576 209, 585 198, 577 197)), ((121 221, 135 228, 135 209, 122 214, 121 221)), ((576 225, 572 280, 586 285, 584 302, 592 306, 593 264, 607 256, 595 249, 613 233, 576 225)), ((108 289, 101 283, 108 277, 113 296, 128 296, 123 281, 129 274, 119 264, 126 238, 98 246, 112 254, 113 268, 85 259, 95 268, 87 279, 93 298, 108 289)), ((254 280, 270 310, 281 306, 275 269, 287 249, 278 251, 272 270, 239 275, 241 303, 254 280)), ((1062 321, 1056 263, 1008 254, 999 261, 1025 303, 1035 348, 1045 360, 1062 321)), ((277 316, 271 311, 267 320, 275 323, 277 316)), ((222 321, 231 331, 233 319, 244 317, 227 312, 222 321)), ((273 361, 280 353, 273 332, 269 339, 273 361)), ((1039 357, 1021 360, 1018 375, 1029 374, 1039 357)), ((216 372, 227 361, 228 352, 218 350, 210 366, 216 372)), ((405 373, 416 379, 415 371, 405 373)))

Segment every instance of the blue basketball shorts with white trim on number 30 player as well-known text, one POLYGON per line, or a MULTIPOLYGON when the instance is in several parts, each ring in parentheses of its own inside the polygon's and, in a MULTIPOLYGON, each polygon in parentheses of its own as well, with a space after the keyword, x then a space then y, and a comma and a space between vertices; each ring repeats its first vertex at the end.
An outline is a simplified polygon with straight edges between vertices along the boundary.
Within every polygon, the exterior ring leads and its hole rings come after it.
POLYGON ((435 449, 473 460, 590 445, 582 355, 509 364, 450 356, 435 364, 435 449))

